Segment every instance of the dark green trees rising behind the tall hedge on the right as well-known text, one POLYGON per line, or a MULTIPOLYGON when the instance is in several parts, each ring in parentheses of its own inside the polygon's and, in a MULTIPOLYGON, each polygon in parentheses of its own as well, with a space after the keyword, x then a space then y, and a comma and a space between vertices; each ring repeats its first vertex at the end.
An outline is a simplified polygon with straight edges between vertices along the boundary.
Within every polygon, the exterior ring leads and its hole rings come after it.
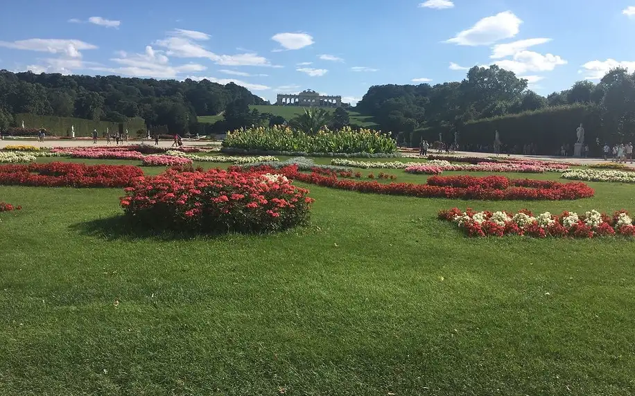
POLYGON ((577 104, 597 107, 607 134, 635 132, 635 73, 615 69, 598 84, 579 81, 543 97, 511 71, 474 66, 461 82, 370 87, 357 110, 374 116, 382 130, 411 134, 423 128, 460 130, 474 120, 577 104))

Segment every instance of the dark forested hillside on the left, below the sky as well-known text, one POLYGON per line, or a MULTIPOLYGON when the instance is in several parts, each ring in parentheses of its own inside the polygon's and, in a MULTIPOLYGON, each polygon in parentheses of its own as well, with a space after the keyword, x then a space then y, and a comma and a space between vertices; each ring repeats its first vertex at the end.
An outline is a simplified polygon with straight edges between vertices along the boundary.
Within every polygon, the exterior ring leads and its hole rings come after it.
POLYGON ((218 114, 234 100, 264 101, 234 83, 154 80, 116 75, 61 75, 0 71, 0 128, 11 114, 76 117, 120 123, 141 117, 147 125, 187 132, 196 116, 218 114))

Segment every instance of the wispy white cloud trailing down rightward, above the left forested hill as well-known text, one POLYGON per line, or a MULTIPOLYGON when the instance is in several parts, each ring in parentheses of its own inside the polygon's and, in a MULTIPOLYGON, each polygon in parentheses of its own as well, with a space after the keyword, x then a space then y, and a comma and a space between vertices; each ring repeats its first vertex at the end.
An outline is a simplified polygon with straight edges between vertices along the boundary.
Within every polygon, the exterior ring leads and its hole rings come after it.
POLYGON ((218 55, 201 46, 197 41, 206 40, 209 35, 193 30, 177 29, 168 32, 168 37, 157 40, 154 44, 166 48, 166 55, 175 57, 206 58, 223 66, 273 66, 266 57, 256 53, 237 55, 218 55))

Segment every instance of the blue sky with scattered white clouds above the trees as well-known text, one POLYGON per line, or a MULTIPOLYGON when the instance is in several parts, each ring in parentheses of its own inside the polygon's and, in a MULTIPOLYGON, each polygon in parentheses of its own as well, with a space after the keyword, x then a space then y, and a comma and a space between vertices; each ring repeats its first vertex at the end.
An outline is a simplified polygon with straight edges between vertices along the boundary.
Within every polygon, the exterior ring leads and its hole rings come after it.
POLYGON ((313 89, 460 81, 498 64, 541 95, 635 71, 635 0, 23 0, 3 4, 0 69, 313 89))

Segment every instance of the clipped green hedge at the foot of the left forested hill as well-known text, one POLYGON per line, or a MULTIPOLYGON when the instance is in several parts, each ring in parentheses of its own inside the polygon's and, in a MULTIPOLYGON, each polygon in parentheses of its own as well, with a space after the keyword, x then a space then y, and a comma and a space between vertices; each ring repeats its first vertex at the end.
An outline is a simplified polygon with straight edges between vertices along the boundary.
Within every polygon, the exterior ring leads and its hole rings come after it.
MULTIPOLYGON (((24 120, 24 127, 39 129, 44 127, 46 131, 54 136, 71 136, 71 126, 75 125, 75 136, 85 137, 92 136, 93 130, 97 129, 99 136, 106 132, 106 128, 110 132, 119 131, 119 123, 111 123, 110 121, 94 121, 85 120, 84 118, 71 117, 55 117, 55 116, 39 116, 37 114, 15 114, 15 126, 21 127, 24 120)), ((130 136, 134 136, 138 129, 146 129, 146 121, 143 118, 131 118, 123 124, 123 130, 128 129, 130 136)))

